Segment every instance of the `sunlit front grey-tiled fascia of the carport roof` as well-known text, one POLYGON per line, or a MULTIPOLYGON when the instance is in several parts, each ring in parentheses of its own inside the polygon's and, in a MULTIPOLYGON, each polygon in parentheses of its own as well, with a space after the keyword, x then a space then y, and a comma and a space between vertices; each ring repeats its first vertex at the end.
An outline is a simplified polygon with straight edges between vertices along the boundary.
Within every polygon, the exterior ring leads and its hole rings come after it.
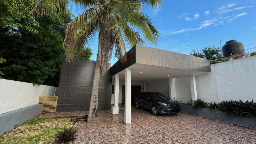
POLYGON ((208 59, 141 45, 136 45, 136 63, 211 72, 208 59))

